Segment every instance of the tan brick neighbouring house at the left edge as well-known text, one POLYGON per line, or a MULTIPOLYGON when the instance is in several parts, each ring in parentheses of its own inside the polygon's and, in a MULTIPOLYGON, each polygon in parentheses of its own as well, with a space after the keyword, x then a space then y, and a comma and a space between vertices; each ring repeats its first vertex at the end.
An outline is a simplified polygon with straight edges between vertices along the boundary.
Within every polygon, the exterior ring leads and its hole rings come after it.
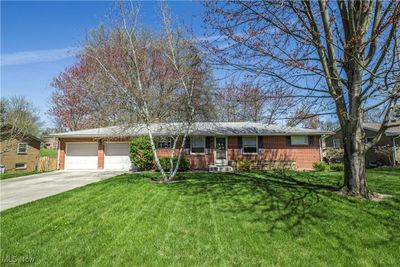
POLYGON ((26 172, 36 170, 40 144, 43 141, 33 135, 24 135, 21 138, 6 138, 0 140, 0 165, 6 172, 26 172))

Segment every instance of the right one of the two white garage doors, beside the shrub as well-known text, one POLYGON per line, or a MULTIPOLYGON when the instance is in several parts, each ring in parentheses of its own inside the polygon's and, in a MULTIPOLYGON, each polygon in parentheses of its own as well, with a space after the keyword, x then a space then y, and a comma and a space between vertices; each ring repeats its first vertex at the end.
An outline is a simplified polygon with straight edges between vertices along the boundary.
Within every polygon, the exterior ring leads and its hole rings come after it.
POLYGON ((129 170, 131 160, 128 147, 128 143, 107 143, 105 146, 104 169, 129 170))

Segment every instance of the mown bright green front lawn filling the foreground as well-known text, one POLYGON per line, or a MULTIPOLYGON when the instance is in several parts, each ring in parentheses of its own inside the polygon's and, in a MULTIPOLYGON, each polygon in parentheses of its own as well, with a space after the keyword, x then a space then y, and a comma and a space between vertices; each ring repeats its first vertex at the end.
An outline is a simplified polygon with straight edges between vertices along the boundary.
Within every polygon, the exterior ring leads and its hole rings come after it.
POLYGON ((341 196, 341 174, 121 175, 1 213, 1 254, 37 265, 395 266, 400 170, 368 170, 382 202, 341 196))

